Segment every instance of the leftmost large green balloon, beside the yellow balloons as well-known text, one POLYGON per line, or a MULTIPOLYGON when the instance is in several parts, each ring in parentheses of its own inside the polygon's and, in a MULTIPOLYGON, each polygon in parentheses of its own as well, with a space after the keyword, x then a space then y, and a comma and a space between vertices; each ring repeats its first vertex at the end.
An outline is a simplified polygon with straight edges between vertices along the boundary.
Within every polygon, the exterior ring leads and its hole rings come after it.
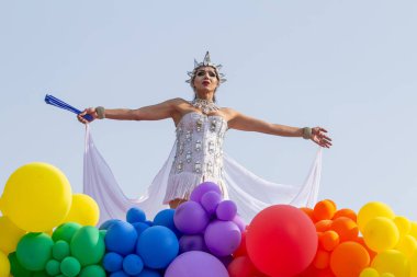
POLYGON ((29 270, 44 270, 53 245, 54 241, 46 233, 27 233, 18 243, 18 259, 29 270))

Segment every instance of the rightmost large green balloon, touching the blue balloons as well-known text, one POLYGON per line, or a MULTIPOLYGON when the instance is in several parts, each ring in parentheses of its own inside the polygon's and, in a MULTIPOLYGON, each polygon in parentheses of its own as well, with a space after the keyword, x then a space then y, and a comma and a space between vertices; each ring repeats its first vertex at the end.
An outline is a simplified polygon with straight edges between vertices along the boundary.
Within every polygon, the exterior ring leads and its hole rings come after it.
POLYGON ((99 230, 92 226, 84 226, 78 230, 69 245, 72 256, 82 266, 98 264, 105 252, 104 238, 99 230))

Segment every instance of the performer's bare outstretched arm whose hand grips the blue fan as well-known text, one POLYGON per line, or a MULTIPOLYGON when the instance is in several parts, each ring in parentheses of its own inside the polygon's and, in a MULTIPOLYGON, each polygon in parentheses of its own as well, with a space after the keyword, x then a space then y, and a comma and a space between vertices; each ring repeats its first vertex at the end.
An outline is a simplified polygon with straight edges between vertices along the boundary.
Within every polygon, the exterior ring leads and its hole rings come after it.
POLYGON ((173 99, 136 109, 89 107, 79 114, 77 118, 83 124, 88 123, 82 117, 86 114, 91 115, 94 119, 102 117, 117 120, 159 120, 172 117, 178 102, 179 100, 173 99))

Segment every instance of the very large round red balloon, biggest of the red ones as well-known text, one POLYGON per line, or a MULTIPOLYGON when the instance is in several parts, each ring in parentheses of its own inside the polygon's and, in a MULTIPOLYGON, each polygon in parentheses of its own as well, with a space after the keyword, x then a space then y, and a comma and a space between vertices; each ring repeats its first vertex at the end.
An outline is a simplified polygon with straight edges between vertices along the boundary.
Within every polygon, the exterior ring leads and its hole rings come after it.
POLYGON ((271 277, 302 273, 313 262, 317 244, 312 220, 290 205, 275 205, 260 211, 246 234, 250 259, 271 277))

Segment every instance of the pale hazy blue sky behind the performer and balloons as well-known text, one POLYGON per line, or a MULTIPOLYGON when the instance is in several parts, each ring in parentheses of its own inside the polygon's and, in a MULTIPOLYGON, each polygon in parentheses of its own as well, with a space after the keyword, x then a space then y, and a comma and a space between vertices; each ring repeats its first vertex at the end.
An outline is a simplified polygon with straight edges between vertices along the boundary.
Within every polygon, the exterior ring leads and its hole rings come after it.
MULTIPOLYGON (((54 164, 82 192, 84 127, 44 103, 137 108, 191 100, 193 60, 211 51, 221 106, 322 126, 319 199, 358 211, 383 201, 417 220, 417 2, 0 1, 0 193, 19 166, 54 164)), ((126 195, 143 194, 174 140, 171 120, 91 124, 126 195)), ((225 152, 270 181, 304 181, 317 146, 229 130, 225 152)))

